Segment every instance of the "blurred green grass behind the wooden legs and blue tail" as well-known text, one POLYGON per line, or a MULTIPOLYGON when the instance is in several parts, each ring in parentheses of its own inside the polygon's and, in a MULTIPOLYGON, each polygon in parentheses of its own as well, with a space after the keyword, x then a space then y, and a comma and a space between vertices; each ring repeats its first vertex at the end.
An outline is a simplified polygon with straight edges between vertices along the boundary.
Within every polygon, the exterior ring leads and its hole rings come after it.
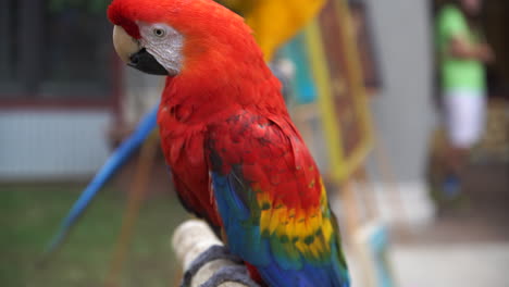
MULTIPOLYGON (((103 286, 126 196, 112 188, 87 210, 64 247, 36 263, 78 197, 77 185, 0 185, 0 286, 103 286)), ((120 286, 172 286, 174 227, 187 217, 173 195, 151 196, 137 219, 120 286)))

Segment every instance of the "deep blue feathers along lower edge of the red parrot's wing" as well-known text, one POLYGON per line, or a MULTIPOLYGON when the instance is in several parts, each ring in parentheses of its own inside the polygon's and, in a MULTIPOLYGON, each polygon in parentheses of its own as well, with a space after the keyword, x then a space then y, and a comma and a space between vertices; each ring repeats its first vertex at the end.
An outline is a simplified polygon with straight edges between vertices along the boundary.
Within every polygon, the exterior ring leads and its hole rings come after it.
MULTIPOLYGON (((276 255, 271 248, 270 239, 260 234, 260 226, 246 224, 249 220, 249 209, 238 197, 239 190, 232 184, 232 174, 212 173, 212 185, 218 209, 223 219, 224 229, 228 238, 229 250, 256 266, 264 280, 273 287, 277 286, 323 286, 348 287, 348 274, 336 257, 323 264, 313 264, 300 260, 291 261, 276 255)), ((333 244, 331 252, 338 252, 333 244)))

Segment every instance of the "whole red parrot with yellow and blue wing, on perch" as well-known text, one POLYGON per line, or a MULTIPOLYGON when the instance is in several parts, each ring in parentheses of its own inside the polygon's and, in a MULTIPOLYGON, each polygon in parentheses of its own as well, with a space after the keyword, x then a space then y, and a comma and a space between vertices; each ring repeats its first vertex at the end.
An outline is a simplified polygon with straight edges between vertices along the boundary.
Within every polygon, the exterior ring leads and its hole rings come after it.
POLYGON ((212 0, 113 0, 115 50, 166 76, 161 144, 183 204, 268 286, 349 286, 320 172, 244 20, 212 0))

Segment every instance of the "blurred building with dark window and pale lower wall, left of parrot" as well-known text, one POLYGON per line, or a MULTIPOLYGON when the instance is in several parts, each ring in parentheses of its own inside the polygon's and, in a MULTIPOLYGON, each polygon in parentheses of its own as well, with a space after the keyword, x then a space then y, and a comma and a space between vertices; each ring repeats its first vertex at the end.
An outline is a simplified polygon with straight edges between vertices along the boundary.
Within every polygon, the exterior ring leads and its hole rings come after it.
POLYGON ((125 74, 114 54, 109 2, 0 1, 0 180, 86 178, 107 159, 110 130, 142 114, 125 108, 140 98, 132 93, 157 102, 145 90, 154 79, 125 74))

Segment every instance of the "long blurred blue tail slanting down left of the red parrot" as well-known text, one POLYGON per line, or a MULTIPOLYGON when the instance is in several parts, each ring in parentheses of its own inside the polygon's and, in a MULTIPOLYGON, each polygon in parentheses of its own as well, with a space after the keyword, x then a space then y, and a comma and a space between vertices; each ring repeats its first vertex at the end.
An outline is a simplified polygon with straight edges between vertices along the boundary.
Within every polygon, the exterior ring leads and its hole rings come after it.
POLYGON ((92 199, 97 196, 104 184, 120 170, 120 167, 138 150, 141 144, 158 126, 158 109, 156 105, 144 118, 139 122, 136 130, 125 139, 119 148, 110 155, 108 161, 102 165, 101 170, 96 174, 94 179, 88 184, 87 188, 82 192, 76 200, 67 216, 62 221, 58 233, 53 236, 50 245, 45 251, 45 257, 51 254, 65 240, 71 228, 74 226, 79 216, 85 212, 92 199))

